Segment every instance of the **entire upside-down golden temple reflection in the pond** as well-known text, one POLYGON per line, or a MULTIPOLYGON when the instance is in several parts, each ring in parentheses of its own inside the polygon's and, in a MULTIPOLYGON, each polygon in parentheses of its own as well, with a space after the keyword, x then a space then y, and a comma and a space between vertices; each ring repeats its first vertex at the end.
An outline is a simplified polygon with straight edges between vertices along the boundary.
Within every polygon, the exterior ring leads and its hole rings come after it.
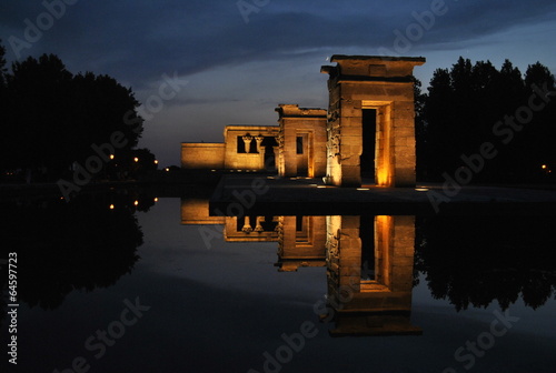
POLYGON ((332 336, 423 333, 410 322, 415 216, 209 216, 208 201, 189 199, 181 221, 224 225, 228 242, 278 242, 282 272, 326 266, 332 336))

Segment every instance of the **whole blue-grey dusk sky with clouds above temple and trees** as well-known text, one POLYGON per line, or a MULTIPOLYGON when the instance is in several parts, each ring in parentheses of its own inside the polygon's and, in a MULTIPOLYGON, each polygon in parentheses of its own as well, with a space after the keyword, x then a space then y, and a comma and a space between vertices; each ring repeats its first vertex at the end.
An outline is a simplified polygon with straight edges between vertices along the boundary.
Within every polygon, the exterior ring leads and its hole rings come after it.
POLYGON ((556 72, 555 16, 553 0, 0 0, 0 38, 9 61, 54 53, 151 102, 140 147, 167 165, 225 124, 276 124, 278 103, 326 108, 332 54, 426 57, 425 85, 459 56, 556 72))

